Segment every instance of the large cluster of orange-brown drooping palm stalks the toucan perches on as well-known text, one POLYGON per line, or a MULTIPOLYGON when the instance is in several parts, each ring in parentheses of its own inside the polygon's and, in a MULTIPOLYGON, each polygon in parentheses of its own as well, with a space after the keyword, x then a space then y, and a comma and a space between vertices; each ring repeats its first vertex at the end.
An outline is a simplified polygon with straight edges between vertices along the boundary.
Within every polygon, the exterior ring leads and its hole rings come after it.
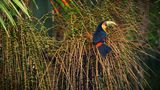
POLYGON ((49 64, 52 87, 56 90, 143 89, 144 62, 137 55, 143 51, 138 31, 141 18, 136 16, 135 3, 126 0, 98 4, 90 6, 85 1, 76 1, 80 12, 56 16, 55 22, 65 36, 53 53, 55 63, 49 64), (92 33, 104 20, 118 23, 118 27, 108 31, 107 43, 112 52, 106 59, 92 45, 92 33))

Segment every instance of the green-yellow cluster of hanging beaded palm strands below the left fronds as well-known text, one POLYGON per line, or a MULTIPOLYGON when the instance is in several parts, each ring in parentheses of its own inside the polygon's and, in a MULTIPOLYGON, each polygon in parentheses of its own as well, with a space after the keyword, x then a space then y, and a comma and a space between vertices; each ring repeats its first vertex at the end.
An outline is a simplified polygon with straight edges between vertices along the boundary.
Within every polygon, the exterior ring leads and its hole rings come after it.
POLYGON ((29 20, 17 23, 18 28, 7 26, 10 37, 2 33, 1 89, 50 89, 43 55, 45 34, 37 32, 29 20))

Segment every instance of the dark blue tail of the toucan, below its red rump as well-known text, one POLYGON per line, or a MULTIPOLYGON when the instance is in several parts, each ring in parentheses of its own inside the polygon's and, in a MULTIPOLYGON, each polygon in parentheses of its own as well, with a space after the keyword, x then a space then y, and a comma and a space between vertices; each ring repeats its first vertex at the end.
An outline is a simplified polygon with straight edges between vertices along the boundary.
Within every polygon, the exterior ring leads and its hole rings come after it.
POLYGON ((112 50, 109 46, 105 43, 98 47, 99 53, 102 55, 103 58, 107 56, 107 54, 112 50))

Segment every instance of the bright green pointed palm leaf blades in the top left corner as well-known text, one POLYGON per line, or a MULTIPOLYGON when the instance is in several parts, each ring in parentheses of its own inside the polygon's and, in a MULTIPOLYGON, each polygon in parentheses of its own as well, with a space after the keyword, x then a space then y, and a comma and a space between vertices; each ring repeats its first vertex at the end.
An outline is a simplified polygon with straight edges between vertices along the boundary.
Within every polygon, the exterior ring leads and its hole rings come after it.
POLYGON ((14 17, 21 17, 21 14, 18 11, 17 6, 24 12, 24 14, 26 14, 30 18, 27 7, 25 6, 24 2, 19 0, 13 0, 13 1, 1 0, 0 1, 0 11, 2 11, 1 17, 0 17, 0 25, 3 26, 5 31, 6 31, 6 25, 4 23, 7 22, 7 20, 5 20, 4 18, 5 16, 8 18, 8 20, 11 22, 13 26, 16 26, 16 23, 15 23, 16 21, 14 17))

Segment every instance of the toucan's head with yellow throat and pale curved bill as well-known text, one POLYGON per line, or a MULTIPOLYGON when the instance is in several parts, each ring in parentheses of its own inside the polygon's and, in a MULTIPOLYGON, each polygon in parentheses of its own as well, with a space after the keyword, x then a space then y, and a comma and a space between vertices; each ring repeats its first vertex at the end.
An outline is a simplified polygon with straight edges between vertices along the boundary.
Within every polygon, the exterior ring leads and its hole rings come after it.
POLYGON ((102 23, 102 29, 106 32, 106 30, 110 29, 111 27, 117 26, 117 24, 113 21, 104 21, 102 23))

